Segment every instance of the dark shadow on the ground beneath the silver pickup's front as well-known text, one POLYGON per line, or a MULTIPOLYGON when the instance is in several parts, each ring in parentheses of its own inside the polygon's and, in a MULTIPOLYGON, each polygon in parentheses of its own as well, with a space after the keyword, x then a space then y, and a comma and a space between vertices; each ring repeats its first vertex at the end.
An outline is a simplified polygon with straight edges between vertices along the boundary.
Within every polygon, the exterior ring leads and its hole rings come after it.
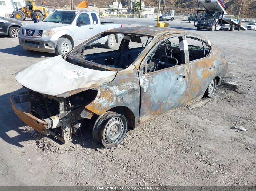
POLYGON ((44 52, 37 52, 32 50, 25 50, 20 45, 17 45, 12 48, 4 48, 0 49, 0 52, 18 56, 26 56, 31 58, 44 58, 44 57, 54 57, 56 54, 54 53, 44 53, 44 52))

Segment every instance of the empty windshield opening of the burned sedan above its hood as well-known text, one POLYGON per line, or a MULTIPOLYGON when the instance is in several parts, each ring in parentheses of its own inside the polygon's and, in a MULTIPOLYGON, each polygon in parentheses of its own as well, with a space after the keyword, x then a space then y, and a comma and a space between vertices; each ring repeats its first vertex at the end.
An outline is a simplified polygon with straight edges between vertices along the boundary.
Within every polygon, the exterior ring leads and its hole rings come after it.
POLYGON ((78 46, 71 56, 81 60, 74 63, 81 67, 110 71, 124 70, 135 61, 151 40, 152 37, 105 33, 78 46))

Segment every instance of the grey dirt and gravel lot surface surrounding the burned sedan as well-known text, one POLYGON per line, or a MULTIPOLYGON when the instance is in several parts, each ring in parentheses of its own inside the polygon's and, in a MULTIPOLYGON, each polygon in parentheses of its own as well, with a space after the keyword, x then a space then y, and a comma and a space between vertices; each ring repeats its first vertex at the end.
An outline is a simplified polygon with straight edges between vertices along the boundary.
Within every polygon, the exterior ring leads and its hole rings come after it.
POLYGON ((26 126, 10 106, 9 96, 22 88, 14 74, 55 55, 0 37, 0 185, 255 186, 256 32, 196 31, 187 22, 173 23, 226 53, 228 73, 213 98, 158 116, 114 149, 97 144, 89 130, 86 140, 62 145, 26 126))

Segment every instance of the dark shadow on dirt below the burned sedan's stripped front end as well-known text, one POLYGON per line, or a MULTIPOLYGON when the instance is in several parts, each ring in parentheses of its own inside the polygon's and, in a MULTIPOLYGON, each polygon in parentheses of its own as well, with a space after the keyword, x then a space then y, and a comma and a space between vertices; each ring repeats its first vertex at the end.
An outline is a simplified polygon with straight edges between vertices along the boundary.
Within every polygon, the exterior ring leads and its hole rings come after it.
MULTIPOLYGON (((0 132, 0 138, 2 138, 5 142, 15 145, 17 147, 24 147, 22 142, 35 140, 35 142, 38 142, 41 138, 44 138, 46 135, 43 135, 37 131, 38 134, 41 134, 40 136, 33 136, 33 130, 27 126, 19 117, 14 113, 11 103, 10 103, 10 96, 12 95, 18 95, 21 92, 24 92, 24 88, 20 88, 16 91, 3 94, 0 96, 0 101, 2 104, 2 107, 0 108, 0 121, 1 121, 1 132, 0 132)), ((25 109, 26 111, 29 110, 29 107, 24 107, 24 103, 22 103, 20 106, 25 109)), ((26 104, 28 105, 28 104, 26 104)), ((52 141, 54 141, 56 144, 63 145, 65 147, 68 147, 73 144, 79 144, 86 148, 92 148, 97 149, 101 148, 102 145, 100 143, 95 142, 92 136, 92 127, 82 127, 82 136, 81 135, 73 135, 73 141, 71 143, 68 143, 64 145, 61 141, 59 141, 57 138, 54 138, 53 136, 49 135, 47 136, 52 141)))

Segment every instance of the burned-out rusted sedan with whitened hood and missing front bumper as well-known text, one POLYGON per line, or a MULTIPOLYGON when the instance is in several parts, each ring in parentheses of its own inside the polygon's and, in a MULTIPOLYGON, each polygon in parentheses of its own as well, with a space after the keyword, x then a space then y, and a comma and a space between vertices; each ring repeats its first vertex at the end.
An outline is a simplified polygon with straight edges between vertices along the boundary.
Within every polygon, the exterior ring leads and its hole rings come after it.
POLYGON ((67 143, 91 127, 95 141, 112 148, 128 129, 212 97, 227 70, 224 54, 194 33, 115 28, 17 72, 26 91, 10 99, 18 117, 45 135, 67 143), (119 39, 111 51, 96 44, 109 35, 119 39), (28 102, 30 111, 18 102, 28 102))

